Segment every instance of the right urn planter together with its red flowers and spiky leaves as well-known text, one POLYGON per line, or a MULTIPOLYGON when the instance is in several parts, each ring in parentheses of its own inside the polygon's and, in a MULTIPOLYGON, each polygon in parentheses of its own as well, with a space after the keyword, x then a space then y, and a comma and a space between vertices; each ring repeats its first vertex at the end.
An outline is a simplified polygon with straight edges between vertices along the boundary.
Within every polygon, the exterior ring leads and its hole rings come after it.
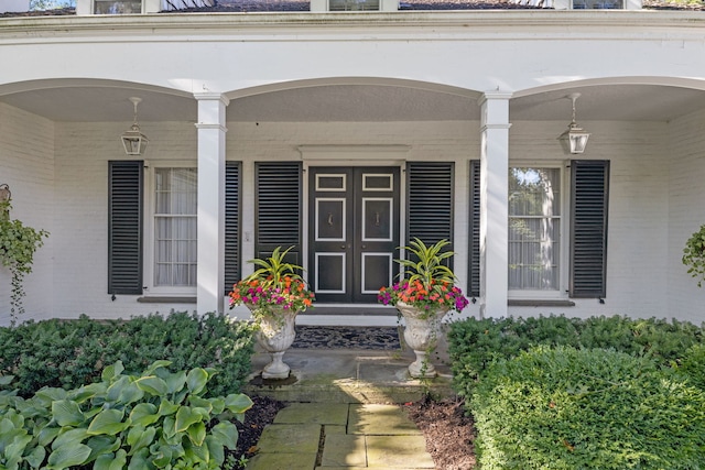
POLYGON ((379 291, 379 302, 393 305, 404 318, 404 340, 416 354, 409 365, 413 378, 436 375, 427 354, 437 346, 441 320, 448 311, 462 311, 468 305, 467 297, 455 285, 455 274, 444 264, 454 254, 443 251, 448 244, 447 240, 441 240, 427 247, 415 238, 404 247, 408 259, 395 260, 403 267, 399 282, 379 291))

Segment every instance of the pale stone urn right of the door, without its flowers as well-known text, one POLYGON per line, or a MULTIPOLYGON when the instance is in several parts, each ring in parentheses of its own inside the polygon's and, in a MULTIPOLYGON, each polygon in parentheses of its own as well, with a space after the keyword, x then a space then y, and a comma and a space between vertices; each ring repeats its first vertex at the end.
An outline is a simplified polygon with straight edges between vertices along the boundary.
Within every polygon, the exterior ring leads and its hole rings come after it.
POLYGON ((436 369, 429 354, 438 345, 441 323, 445 314, 448 313, 449 307, 441 307, 429 311, 399 302, 397 309, 404 317, 404 341, 416 354, 416 360, 409 364, 409 374, 414 379, 436 376, 436 369))

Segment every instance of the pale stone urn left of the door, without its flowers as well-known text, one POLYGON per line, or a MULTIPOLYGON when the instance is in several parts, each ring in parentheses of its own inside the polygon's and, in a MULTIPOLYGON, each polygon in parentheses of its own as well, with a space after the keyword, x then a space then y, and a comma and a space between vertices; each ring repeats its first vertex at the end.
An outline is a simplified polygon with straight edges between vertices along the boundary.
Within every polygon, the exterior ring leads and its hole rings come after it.
POLYGON ((262 379, 288 379, 291 368, 283 357, 296 338, 296 311, 271 308, 270 315, 262 314, 260 309, 254 332, 257 342, 272 357, 272 361, 262 369, 262 379))

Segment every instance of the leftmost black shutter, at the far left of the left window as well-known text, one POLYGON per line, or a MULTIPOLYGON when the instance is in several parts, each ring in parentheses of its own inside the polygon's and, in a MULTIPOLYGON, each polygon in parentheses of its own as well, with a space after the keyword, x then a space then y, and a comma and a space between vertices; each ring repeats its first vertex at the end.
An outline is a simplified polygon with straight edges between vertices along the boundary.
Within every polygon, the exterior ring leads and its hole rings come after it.
POLYGON ((108 294, 142 294, 142 167, 108 162, 108 294))

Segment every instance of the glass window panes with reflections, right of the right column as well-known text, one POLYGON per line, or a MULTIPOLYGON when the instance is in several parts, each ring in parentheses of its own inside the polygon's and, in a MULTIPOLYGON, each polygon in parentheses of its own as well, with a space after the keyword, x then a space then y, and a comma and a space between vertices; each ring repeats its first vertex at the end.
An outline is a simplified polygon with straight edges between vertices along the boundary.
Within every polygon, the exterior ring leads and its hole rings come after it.
POLYGON ((509 170, 509 289, 561 288, 561 168, 509 170))

